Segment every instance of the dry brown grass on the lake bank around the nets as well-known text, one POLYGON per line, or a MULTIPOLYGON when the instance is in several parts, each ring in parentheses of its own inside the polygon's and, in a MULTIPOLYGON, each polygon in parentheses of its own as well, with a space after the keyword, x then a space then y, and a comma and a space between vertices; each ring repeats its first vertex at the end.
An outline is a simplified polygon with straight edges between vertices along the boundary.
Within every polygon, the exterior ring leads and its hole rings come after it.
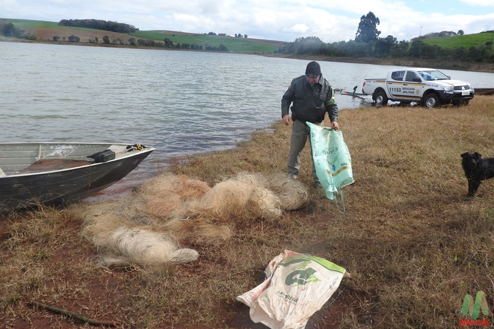
MULTIPOLYGON (((305 207, 275 221, 222 223, 226 240, 181 235, 182 247, 200 254, 188 264, 101 268, 82 238, 82 219, 50 209, 15 214, 1 222, 0 327, 74 328, 28 306, 34 299, 123 328, 264 328, 235 299, 288 249, 351 273, 307 329, 456 328, 465 294, 482 290, 494 307, 494 180, 465 198, 459 156, 494 156, 493 103, 478 96, 459 108, 341 110, 355 178, 344 188, 346 212, 309 187, 306 148, 299 176, 310 192, 305 207)), ((214 186, 241 172, 283 173, 290 129, 273 128, 235 149, 174 162, 170 174, 214 186)))

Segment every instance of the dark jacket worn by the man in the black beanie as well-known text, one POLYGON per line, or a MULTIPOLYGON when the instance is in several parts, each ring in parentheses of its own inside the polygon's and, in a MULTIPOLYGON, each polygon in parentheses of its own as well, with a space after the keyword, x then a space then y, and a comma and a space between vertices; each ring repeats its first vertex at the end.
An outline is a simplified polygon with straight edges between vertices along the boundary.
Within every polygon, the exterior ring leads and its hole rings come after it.
POLYGON ((329 82, 319 77, 319 81, 313 86, 301 75, 291 81, 288 90, 281 100, 281 116, 289 114, 290 104, 291 119, 302 122, 319 123, 324 120, 326 112, 329 114, 329 120, 338 120, 338 106, 334 100, 333 88, 329 82))

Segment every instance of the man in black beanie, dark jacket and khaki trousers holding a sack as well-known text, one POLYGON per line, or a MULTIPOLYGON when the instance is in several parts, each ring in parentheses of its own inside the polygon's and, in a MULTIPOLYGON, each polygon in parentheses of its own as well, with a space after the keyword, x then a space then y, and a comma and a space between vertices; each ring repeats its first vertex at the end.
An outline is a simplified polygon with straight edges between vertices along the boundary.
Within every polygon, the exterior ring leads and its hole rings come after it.
MULTIPOLYGON (((298 177, 300 170, 300 152, 307 142, 310 128, 305 122, 323 124, 326 112, 329 114, 331 128, 338 130, 338 107, 334 100, 333 88, 323 78, 321 67, 317 62, 307 64, 305 75, 294 78, 281 101, 281 115, 283 123, 290 123, 288 110, 291 107, 291 130, 290 154, 288 155, 288 175, 292 179, 298 177)), ((310 143, 310 140, 309 140, 310 143)), ((312 148, 311 148, 312 155, 312 148)), ((316 167, 312 161, 312 176, 314 185, 321 186, 316 174, 316 167)))

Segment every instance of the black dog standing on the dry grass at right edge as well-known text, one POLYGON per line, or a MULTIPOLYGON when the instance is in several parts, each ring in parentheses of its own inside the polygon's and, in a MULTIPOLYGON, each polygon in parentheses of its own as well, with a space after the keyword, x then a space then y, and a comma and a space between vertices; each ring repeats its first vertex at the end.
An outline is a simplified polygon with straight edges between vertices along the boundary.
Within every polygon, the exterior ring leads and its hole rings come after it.
POLYGON ((474 196, 483 180, 494 177, 494 158, 482 159, 477 152, 466 152, 461 157, 461 166, 468 180, 468 196, 474 196))

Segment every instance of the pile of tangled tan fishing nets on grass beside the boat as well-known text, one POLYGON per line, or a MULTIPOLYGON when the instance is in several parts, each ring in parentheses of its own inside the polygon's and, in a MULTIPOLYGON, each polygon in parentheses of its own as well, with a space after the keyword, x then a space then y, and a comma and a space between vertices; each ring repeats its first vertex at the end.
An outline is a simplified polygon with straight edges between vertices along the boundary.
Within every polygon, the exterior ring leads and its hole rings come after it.
POLYGON ((229 224, 278 219, 303 206, 305 187, 287 175, 241 173, 210 187, 185 175, 163 174, 118 202, 81 204, 83 235, 100 251, 104 266, 190 262, 199 257, 180 241, 217 243, 230 237, 229 224))

